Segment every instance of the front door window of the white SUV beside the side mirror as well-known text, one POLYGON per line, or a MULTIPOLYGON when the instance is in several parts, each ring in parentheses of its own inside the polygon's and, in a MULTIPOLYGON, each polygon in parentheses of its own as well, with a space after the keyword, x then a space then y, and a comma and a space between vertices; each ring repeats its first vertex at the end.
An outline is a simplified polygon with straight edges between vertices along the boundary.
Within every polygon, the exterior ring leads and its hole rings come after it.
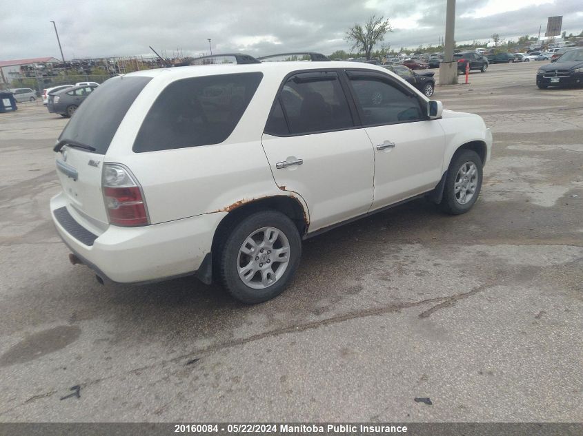
POLYGON ((363 125, 406 123, 424 119, 417 97, 379 76, 350 74, 363 125))

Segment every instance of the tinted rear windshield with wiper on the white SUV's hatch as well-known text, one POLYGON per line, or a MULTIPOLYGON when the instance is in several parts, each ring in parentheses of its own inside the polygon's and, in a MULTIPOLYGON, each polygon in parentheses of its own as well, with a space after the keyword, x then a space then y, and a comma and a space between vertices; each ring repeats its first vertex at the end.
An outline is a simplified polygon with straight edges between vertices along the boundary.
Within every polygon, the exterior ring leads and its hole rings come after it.
POLYGON ((121 120, 150 80, 150 77, 117 76, 105 81, 79 106, 59 140, 77 141, 95 147, 97 154, 106 154, 121 120))

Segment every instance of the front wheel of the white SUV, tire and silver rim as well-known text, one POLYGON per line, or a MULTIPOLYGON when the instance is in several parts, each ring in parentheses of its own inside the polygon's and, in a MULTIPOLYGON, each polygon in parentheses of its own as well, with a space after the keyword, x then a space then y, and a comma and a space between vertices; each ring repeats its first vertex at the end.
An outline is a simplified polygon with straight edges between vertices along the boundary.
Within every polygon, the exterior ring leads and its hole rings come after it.
POLYGON ((482 166, 482 159, 473 150, 462 149, 453 156, 439 203, 444 212, 460 215, 473 207, 482 189, 482 166))

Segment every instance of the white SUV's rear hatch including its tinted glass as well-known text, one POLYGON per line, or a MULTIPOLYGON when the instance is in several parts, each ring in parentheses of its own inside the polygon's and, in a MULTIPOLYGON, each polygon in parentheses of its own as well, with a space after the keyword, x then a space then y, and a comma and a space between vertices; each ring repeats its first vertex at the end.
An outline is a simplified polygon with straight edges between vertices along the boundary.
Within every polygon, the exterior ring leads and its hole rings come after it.
POLYGON ((67 209, 77 222, 96 234, 108 226, 101 191, 103 160, 117 127, 150 80, 117 76, 97 87, 79 106, 55 145, 57 174, 68 199, 67 209))

